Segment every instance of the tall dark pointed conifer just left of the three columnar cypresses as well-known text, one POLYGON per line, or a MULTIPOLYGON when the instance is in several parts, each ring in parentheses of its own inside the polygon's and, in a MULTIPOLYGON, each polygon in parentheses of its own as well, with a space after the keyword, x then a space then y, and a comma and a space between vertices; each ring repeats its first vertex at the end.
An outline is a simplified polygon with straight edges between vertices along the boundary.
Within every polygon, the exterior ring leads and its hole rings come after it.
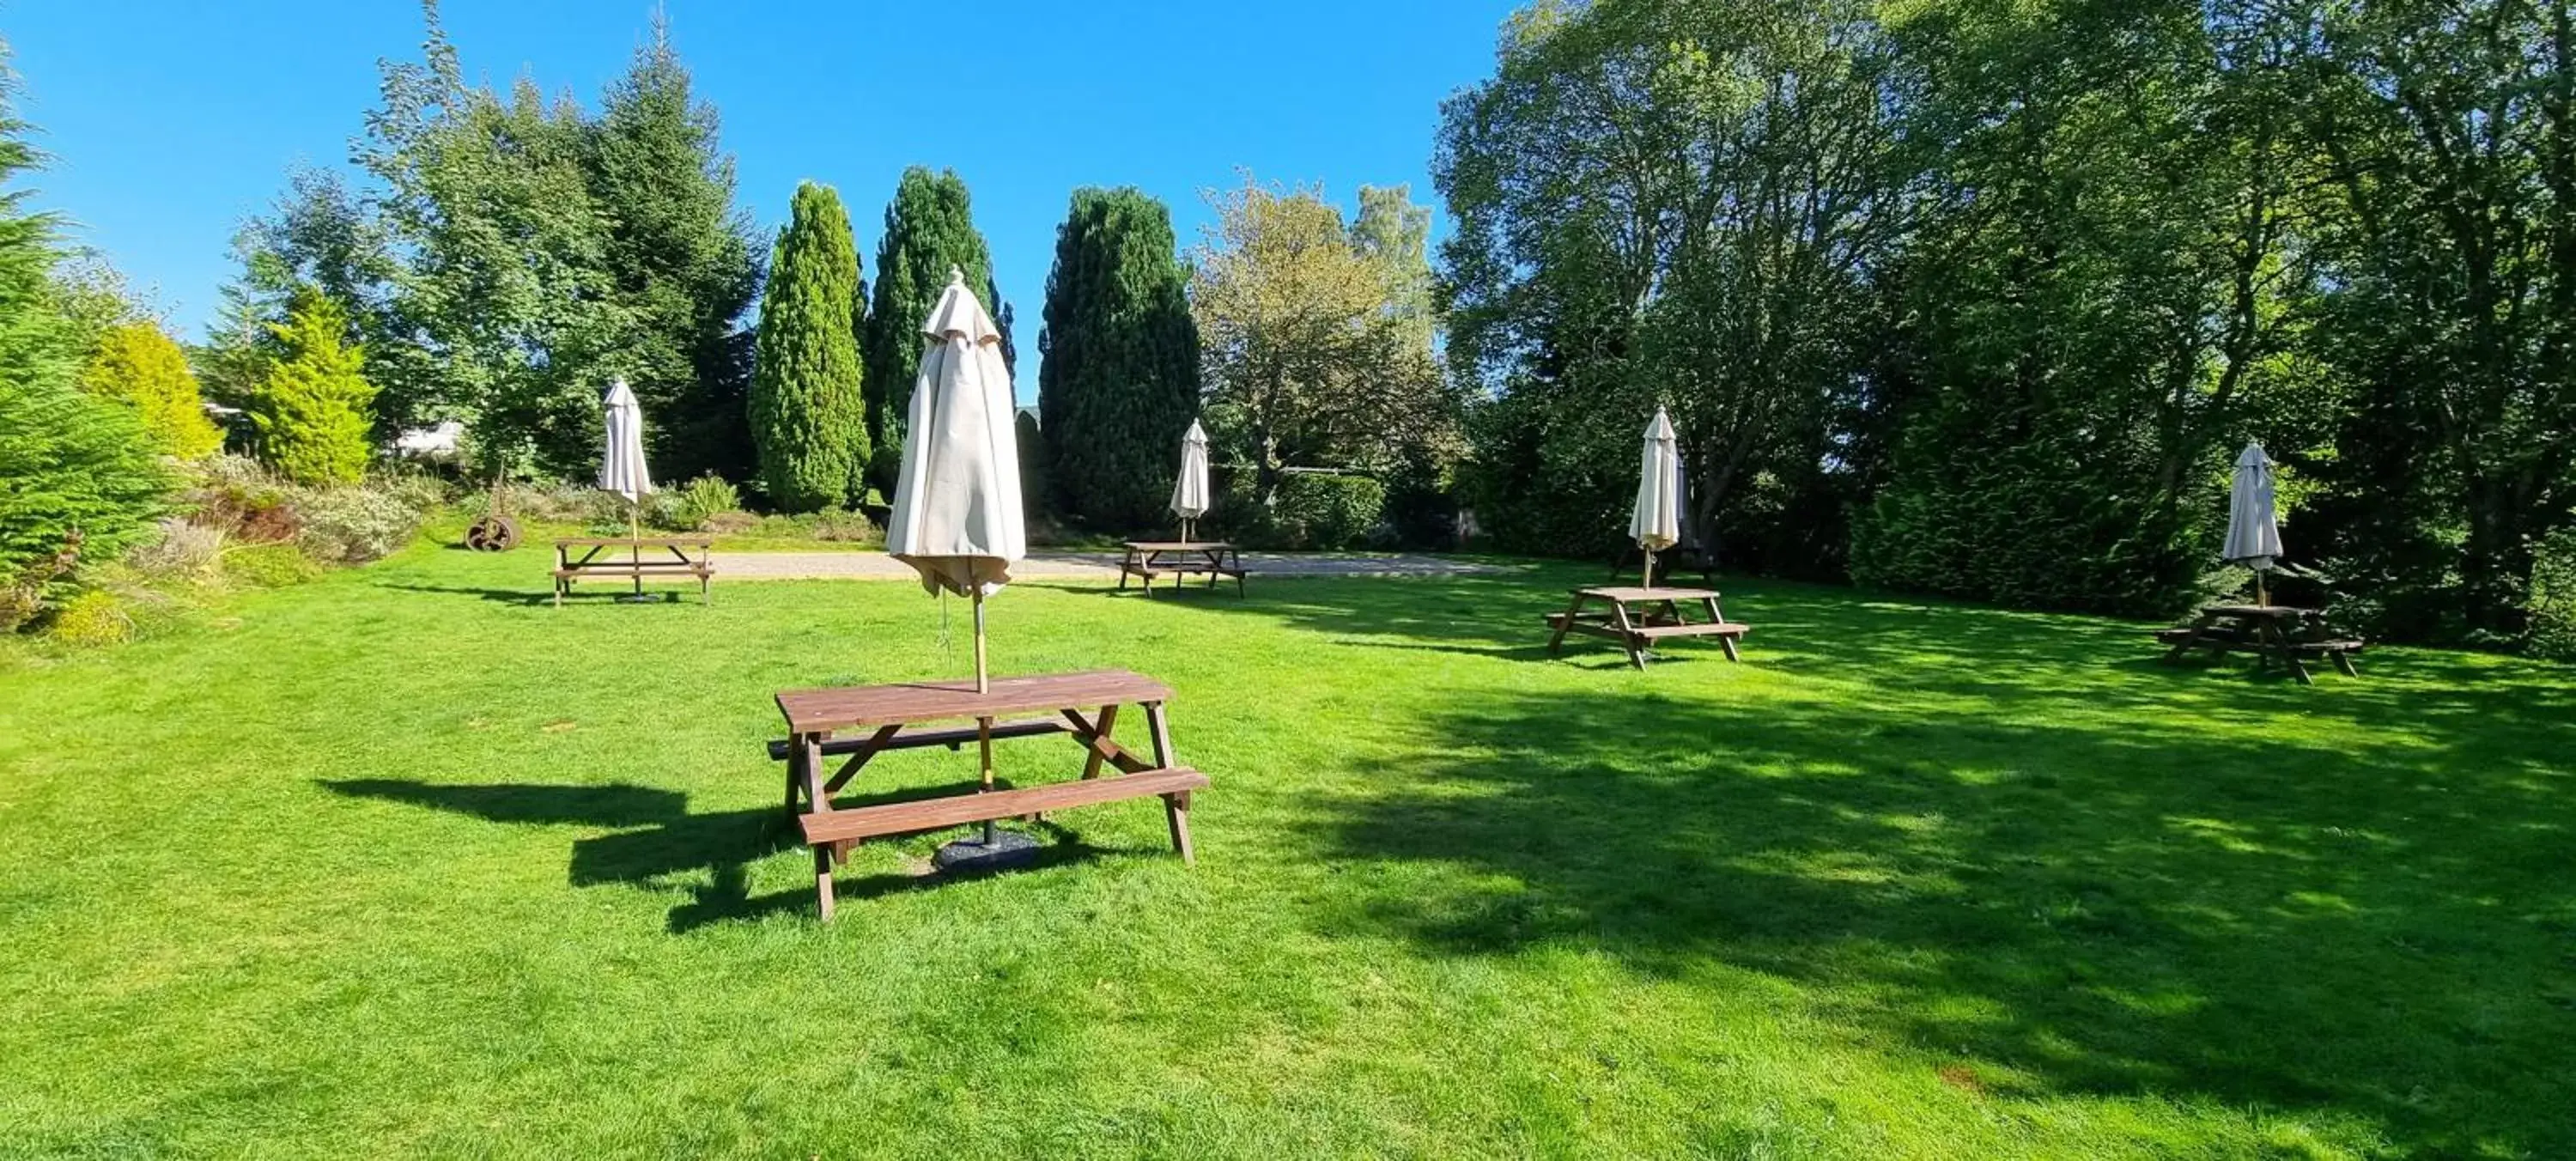
POLYGON ((608 221, 611 293, 631 317, 621 355, 654 420, 644 430, 654 469, 667 479, 747 479, 752 335, 742 317, 760 291, 757 242, 734 206, 734 160, 716 144, 716 108, 690 95, 659 15, 634 64, 608 85, 585 162, 608 221))

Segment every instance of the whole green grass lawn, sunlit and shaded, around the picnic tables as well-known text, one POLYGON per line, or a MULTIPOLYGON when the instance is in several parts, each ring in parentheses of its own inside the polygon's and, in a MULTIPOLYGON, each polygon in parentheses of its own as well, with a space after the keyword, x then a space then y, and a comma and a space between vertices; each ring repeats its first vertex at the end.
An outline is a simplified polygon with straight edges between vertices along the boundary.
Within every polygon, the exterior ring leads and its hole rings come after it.
POLYGON ((824 927, 770 692, 963 674, 966 605, 544 569, 0 672, 0 1153, 2576 1156, 2576 672, 1762 582, 1744 664, 1631 672, 1540 649, 1592 569, 1020 584, 997 672, 1177 690, 1198 868, 1115 803, 1025 873, 863 847, 824 927))

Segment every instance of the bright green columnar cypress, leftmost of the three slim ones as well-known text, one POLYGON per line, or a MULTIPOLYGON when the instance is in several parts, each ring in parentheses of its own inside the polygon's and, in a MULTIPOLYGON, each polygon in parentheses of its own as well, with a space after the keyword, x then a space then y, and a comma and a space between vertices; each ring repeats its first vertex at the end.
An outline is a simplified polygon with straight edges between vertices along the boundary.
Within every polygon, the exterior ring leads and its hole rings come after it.
POLYGON ((858 242, 829 185, 801 183, 770 257, 752 368, 752 443, 770 502, 788 512, 863 499, 868 412, 853 332, 858 242))

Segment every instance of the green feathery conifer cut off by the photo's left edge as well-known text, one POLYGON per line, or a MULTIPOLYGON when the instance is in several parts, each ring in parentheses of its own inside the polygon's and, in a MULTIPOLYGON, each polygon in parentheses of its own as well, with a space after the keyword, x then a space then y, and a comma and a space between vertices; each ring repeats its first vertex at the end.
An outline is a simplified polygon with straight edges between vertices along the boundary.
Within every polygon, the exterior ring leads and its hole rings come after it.
POLYGON ((57 221, 15 180, 36 165, 0 44, 0 620, 70 587, 67 564, 142 541, 170 481, 131 409, 77 386, 80 335, 57 306, 57 221))

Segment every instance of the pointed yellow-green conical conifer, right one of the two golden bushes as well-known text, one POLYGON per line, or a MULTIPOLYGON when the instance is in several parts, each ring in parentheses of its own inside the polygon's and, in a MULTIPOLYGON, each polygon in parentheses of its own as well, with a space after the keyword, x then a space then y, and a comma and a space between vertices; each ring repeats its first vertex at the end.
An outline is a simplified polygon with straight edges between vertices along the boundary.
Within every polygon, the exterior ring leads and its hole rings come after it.
POLYGON ((366 474, 376 386, 363 355, 343 342, 348 317, 319 291, 270 324, 278 358, 252 399, 260 461, 296 484, 350 484, 366 474))

